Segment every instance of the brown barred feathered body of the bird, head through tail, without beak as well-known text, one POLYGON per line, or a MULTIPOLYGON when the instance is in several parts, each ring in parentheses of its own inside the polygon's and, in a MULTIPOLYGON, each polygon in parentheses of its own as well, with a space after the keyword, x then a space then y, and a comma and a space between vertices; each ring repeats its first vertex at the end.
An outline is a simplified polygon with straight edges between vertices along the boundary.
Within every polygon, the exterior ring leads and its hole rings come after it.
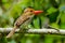
POLYGON ((16 30, 17 28, 20 28, 21 25, 26 26, 27 23, 30 23, 31 17, 34 16, 34 13, 30 12, 30 11, 34 12, 32 9, 26 9, 26 10, 24 11, 24 13, 16 19, 16 22, 15 22, 15 24, 14 24, 13 30, 6 35, 6 38, 12 37, 13 33, 15 32, 15 30, 16 30), (26 25, 25 25, 25 24, 26 24, 26 25))

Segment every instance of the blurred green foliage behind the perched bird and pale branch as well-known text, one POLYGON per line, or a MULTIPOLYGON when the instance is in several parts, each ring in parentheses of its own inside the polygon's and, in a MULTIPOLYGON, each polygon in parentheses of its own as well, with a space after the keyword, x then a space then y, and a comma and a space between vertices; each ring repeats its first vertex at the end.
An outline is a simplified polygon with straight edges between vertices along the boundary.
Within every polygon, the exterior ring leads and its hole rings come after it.
MULTIPOLYGON (((27 6, 43 11, 43 13, 34 17, 29 25, 30 28, 42 28, 44 19, 48 17, 50 26, 65 29, 65 0, 0 0, 0 27, 13 27, 15 19, 27 6)), ((5 34, 2 34, 0 35, 0 43, 65 43, 65 37, 55 34, 22 35, 16 33, 13 38, 5 39, 5 34)))

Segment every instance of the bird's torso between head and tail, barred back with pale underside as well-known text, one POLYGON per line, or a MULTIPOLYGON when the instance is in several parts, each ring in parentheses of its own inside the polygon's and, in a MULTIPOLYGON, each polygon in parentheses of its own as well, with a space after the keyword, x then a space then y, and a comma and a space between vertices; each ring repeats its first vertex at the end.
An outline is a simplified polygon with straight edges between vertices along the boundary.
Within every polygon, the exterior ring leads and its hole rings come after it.
POLYGON ((20 27, 21 25, 27 25, 27 23, 30 23, 34 15, 30 16, 30 13, 24 13, 22 16, 17 18, 14 26, 20 27))

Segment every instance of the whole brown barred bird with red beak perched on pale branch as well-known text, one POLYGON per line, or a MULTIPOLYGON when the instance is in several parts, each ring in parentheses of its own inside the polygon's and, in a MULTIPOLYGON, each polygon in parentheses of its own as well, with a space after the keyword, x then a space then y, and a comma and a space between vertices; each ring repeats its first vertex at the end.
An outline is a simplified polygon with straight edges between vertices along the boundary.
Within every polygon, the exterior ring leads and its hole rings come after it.
POLYGON ((43 11, 35 11, 32 8, 26 8, 24 10, 24 13, 16 19, 14 23, 13 29, 10 31, 10 33, 6 35, 6 38, 11 38, 15 30, 20 28, 20 26, 24 25, 25 27, 28 26, 28 24, 31 22, 35 15, 38 15, 42 13, 43 11))

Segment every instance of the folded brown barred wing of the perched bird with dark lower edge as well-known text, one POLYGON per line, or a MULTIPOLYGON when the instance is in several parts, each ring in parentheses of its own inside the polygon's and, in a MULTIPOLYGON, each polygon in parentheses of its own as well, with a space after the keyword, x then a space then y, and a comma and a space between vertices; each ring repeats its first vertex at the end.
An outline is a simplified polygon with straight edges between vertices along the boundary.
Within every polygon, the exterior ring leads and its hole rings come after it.
POLYGON ((31 17, 31 16, 29 16, 28 14, 27 14, 27 15, 23 14, 22 16, 20 16, 20 17, 17 18, 17 20, 15 22, 14 25, 20 27, 20 26, 23 25, 25 22, 29 20, 30 17, 31 17))

